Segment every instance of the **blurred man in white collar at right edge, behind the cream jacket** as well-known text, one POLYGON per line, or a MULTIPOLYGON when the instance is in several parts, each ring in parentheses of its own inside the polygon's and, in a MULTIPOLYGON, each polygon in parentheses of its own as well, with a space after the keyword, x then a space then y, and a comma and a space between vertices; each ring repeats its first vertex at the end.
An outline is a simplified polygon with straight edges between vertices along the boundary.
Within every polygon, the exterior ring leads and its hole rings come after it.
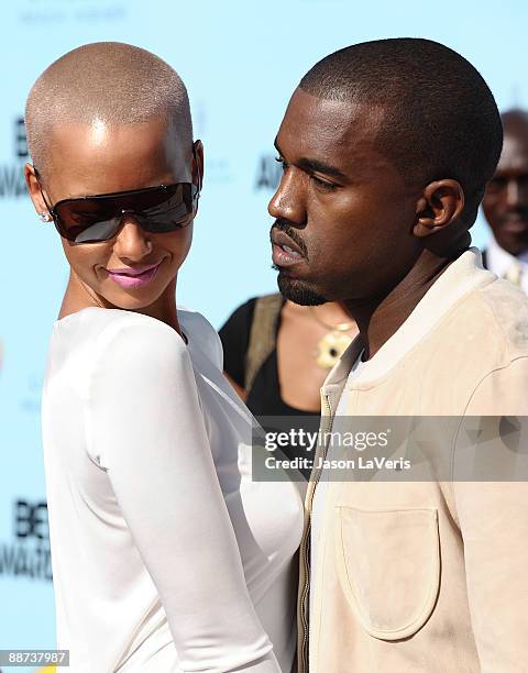
POLYGON ((503 152, 482 202, 493 236, 482 261, 528 293, 528 112, 509 110, 501 119, 503 152))

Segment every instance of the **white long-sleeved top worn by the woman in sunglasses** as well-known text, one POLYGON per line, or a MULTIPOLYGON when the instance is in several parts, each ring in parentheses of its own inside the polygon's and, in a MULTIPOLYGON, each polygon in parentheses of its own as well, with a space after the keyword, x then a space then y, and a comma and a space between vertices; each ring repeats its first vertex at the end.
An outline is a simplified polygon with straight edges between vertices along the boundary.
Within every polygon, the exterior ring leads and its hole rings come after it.
POLYGON ((251 481, 252 416, 199 313, 58 320, 43 393, 57 648, 72 673, 289 673, 295 484, 251 481))

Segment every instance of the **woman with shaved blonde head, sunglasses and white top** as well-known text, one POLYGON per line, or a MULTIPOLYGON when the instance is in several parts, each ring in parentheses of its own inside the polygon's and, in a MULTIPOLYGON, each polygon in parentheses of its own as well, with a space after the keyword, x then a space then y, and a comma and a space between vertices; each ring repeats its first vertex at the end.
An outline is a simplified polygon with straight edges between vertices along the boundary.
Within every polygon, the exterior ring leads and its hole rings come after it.
POLYGON ((25 123, 70 266, 42 410, 57 647, 75 672, 289 673, 300 498, 251 481, 218 335, 176 308, 204 172, 186 88, 89 44, 41 75, 25 123))

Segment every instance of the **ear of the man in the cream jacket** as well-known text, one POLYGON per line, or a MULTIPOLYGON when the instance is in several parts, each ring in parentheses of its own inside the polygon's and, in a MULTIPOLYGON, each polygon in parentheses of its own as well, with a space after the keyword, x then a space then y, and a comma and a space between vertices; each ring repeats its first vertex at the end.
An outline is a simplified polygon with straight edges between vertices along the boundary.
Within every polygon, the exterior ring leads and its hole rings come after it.
POLYGON ((464 209, 464 190, 457 180, 430 183, 416 203, 415 236, 424 238, 443 231, 464 209))

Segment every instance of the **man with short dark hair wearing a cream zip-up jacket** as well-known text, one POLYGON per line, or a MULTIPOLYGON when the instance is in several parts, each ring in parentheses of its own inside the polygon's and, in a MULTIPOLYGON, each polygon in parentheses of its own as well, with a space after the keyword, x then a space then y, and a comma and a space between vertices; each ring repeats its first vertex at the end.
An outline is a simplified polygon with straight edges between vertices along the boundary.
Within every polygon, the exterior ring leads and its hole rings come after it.
MULTIPOLYGON (((363 43, 305 75, 276 147, 278 286, 298 304, 342 302, 360 328, 321 388, 299 670, 519 673, 528 488, 493 470, 457 478, 466 450, 481 455, 466 444, 472 418, 490 417, 495 440, 495 417, 528 412, 528 300, 470 247, 502 147, 494 98, 441 44, 363 43), (438 435, 420 446, 429 462, 411 465, 430 476, 332 481, 318 465, 344 416, 436 419, 438 435)), ((492 444, 502 460, 504 444, 492 444)))

